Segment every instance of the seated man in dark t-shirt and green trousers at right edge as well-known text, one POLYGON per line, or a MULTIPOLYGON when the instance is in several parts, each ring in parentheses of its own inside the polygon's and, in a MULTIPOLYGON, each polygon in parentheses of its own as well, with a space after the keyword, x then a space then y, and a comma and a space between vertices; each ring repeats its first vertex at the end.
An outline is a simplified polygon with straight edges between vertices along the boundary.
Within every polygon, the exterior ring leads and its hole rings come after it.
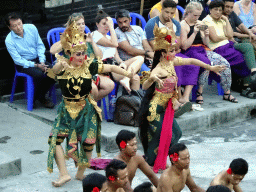
POLYGON ((256 91, 254 86, 256 84, 255 51, 253 50, 253 46, 254 49, 256 48, 256 35, 245 27, 243 22, 233 11, 234 0, 225 0, 224 5, 223 14, 229 18, 234 32, 234 47, 243 53, 246 64, 248 68, 251 69, 251 76, 245 78, 245 82, 247 82, 247 84, 250 83, 250 87, 244 89, 241 94, 245 97, 253 98, 255 97, 255 93, 253 92, 256 91), (239 29, 239 31, 237 31, 237 29, 239 29))

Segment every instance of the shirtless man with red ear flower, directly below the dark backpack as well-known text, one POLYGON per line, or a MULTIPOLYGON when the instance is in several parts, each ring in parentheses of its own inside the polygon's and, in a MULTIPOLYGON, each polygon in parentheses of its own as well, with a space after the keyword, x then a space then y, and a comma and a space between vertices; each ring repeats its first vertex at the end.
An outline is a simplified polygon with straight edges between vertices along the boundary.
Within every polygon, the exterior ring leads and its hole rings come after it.
POLYGON ((137 155, 137 139, 135 133, 128 130, 121 130, 116 136, 116 144, 120 152, 115 159, 121 160, 127 164, 130 186, 125 191, 132 191, 131 184, 136 170, 139 168, 153 183, 158 185, 158 177, 141 155, 137 155))

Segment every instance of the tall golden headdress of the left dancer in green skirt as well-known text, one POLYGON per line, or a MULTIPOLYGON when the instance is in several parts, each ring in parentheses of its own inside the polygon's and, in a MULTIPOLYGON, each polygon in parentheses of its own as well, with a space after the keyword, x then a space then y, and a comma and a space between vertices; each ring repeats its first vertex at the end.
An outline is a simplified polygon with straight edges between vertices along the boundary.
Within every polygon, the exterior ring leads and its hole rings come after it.
POLYGON ((84 33, 78 29, 75 21, 61 35, 60 41, 66 54, 87 50, 84 33))

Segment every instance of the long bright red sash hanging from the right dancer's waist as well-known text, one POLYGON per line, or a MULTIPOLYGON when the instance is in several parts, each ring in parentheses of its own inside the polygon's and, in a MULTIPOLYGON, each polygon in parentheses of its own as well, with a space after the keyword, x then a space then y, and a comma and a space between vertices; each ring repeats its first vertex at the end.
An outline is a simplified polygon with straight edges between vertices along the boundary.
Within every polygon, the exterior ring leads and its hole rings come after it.
POLYGON ((164 119, 162 123, 162 130, 160 135, 160 142, 155 159, 153 171, 158 173, 159 169, 166 169, 166 161, 168 157, 169 148, 172 140, 172 124, 174 118, 174 110, 172 106, 172 99, 169 100, 168 106, 165 110, 164 119))

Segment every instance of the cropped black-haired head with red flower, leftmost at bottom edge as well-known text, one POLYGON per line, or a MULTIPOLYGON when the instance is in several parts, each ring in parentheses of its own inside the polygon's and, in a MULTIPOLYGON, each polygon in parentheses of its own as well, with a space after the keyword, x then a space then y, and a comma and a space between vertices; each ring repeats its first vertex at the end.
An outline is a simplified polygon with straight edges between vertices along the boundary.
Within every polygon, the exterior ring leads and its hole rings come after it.
POLYGON ((83 192, 107 191, 107 178, 99 173, 91 173, 83 179, 83 192))

